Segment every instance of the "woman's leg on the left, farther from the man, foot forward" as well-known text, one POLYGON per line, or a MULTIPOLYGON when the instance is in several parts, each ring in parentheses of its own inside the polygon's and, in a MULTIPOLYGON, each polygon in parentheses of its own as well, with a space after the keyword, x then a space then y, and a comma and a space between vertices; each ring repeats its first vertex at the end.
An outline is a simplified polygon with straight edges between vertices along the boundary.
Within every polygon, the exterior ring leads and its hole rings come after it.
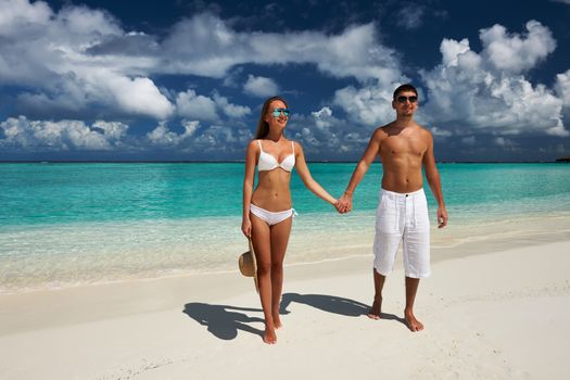
POLYGON ((271 314, 271 240, 267 223, 250 214, 252 221, 252 242, 257 259, 257 284, 265 317, 265 343, 273 344, 277 341, 275 325, 271 314))

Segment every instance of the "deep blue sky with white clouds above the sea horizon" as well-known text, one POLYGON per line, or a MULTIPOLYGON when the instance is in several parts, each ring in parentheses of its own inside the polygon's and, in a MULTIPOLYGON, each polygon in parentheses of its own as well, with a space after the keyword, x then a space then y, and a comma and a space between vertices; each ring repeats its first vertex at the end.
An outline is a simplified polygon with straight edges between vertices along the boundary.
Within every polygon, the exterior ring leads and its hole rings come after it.
POLYGON ((358 160, 396 86, 439 161, 570 155, 570 0, 0 0, 0 160, 242 160, 281 94, 358 160))

